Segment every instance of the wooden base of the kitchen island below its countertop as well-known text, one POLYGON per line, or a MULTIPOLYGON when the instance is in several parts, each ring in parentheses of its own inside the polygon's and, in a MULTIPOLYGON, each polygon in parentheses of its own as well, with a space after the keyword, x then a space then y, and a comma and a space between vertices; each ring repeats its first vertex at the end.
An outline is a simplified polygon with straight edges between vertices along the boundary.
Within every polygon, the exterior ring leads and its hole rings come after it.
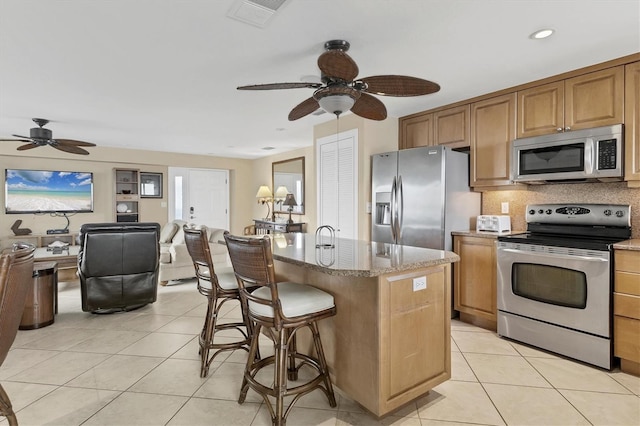
MULTIPOLYGON (((450 264, 374 277, 332 275, 279 260, 278 281, 331 293, 337 313, 318 322, 334 386, 376 416, 451 377, 450 264), (413 291, 413 278, 427 288, 413 291)), ((300 351, 310 334, 298 334, 300 351)))

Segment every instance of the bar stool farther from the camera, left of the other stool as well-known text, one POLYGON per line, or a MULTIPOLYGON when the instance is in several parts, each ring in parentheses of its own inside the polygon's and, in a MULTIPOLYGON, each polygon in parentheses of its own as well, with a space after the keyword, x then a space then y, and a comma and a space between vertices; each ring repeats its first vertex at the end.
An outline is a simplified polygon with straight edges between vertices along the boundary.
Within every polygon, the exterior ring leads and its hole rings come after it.
POLYGON ((219 353, 236 349, 249 351, 251 325, 247 317, 246 304, 240 299, 238 281, 234 273, 229 271, 216 274, 215 272, 206 228, 196 229, 184 225, 183 229, 184 240, 198 279, 198 291, 207 297, 207 314, 200 333, 200 377, 207 377, 209 366, 219 353), (231 300, 240 302, 243 322, 219 323, 220 309, 231 300), (222 330, 237 330, 241 338, 233 342, 215 343, 215 333, 222 330), (209 356, 211 350, 214 352, 209 356))

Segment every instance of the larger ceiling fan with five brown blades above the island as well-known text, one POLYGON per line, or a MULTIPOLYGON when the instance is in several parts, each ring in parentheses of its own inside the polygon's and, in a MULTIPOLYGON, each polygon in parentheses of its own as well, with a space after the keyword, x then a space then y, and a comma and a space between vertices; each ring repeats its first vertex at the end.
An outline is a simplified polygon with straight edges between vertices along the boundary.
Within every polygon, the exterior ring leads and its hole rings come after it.
POLYGON ((405 75, 377 75, 356 80, 358 65, 347 55, 350 44, 345 40, 330 40, 324 44, 325 52, 318 58, 321 81, 298 83, 271 83, 240 86, 238 90, 315 89, 313 96, 302 101, 289 113, 289 121, 323 110, 340 116, 351 110, 370 120, 384 120, 387 109, 376 97, 421 96, 435 93, 440 86, 428 80, 405 75))

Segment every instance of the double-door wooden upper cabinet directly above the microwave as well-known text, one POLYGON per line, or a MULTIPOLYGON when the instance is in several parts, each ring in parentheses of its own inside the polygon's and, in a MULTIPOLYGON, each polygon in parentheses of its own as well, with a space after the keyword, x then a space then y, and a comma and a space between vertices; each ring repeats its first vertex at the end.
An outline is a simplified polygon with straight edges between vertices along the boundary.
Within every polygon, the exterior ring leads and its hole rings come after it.
POLYGON ((518 91, 518 138, 624 120, 624 66, 518 91))

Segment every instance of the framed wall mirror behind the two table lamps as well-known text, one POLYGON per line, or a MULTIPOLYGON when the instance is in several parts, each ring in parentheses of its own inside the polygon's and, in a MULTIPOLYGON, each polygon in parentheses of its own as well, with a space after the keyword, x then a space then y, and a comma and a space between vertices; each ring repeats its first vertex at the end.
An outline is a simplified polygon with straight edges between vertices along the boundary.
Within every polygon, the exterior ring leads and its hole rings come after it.
POLYGON ((273 183, 273 212, 289 213, 284 205, 287 194, 293 194, 292 214, 304 214, 304 157, 276 161, 271 164, 273 183))

